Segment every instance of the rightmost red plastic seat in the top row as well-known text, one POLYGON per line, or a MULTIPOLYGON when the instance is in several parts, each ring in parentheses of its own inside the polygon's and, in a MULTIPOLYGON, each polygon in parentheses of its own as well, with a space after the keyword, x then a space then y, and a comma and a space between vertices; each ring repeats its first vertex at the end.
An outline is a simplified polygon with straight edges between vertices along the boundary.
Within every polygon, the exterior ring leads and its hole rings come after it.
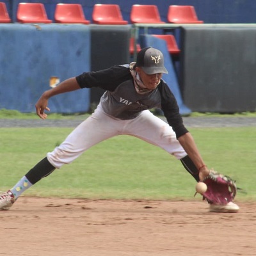
POLYGON ((167 20, 170 23, 198 23, 204 21, 198 20, 194 6, 191 5, 170 5, 167 13, 167 20))

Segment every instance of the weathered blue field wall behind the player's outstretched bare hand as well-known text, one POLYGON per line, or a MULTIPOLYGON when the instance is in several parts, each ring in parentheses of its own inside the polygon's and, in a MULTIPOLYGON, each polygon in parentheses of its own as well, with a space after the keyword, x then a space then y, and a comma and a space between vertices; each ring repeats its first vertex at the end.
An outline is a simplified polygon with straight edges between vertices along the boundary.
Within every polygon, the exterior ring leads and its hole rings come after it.
MULTIPOLYGON (((88 26, 0 24, 0 109, 34 112, 49 90, 50 78, 63 81, 90 71, 88 26)), ((51 112, 85 112, 90 90, 65 93, 49 101, 51 112)))

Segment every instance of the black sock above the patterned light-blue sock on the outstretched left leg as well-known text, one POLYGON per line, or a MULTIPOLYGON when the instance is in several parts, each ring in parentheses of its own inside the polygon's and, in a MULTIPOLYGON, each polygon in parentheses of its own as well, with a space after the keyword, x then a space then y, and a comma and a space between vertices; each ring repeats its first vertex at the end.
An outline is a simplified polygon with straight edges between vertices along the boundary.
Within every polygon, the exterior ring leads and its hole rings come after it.
POLYGON ((25 176, 31 182, 35 184, 38 180, 50 175, 55 170, 55 167, 49 163, 47 157, 42 159, 38 164, 36 164, 25 176))

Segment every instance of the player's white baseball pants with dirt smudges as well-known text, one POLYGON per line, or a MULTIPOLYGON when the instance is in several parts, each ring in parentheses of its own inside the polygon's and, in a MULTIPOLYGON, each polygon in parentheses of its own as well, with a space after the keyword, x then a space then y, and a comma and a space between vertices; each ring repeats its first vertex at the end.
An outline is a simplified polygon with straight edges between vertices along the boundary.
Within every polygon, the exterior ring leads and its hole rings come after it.
POLYGON ((143 111, 134 119, 120 120, 107 115, 99 105, 59 147, 47 154, 47 159, 54 167, 60 168, 100 141, 121 134, 131 135, 163 148, 177 159, 187 156, 172 127, 149 110, 143 111))

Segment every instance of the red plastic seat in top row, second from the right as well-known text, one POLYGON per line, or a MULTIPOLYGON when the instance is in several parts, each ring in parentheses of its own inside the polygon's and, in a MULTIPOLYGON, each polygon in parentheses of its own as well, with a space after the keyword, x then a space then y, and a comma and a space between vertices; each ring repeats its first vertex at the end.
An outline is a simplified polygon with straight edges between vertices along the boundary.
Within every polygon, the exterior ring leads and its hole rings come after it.
POLYGON ((131 23, 165 23, 161 20, 156 5, 132 5, 130 14, 131 23))

